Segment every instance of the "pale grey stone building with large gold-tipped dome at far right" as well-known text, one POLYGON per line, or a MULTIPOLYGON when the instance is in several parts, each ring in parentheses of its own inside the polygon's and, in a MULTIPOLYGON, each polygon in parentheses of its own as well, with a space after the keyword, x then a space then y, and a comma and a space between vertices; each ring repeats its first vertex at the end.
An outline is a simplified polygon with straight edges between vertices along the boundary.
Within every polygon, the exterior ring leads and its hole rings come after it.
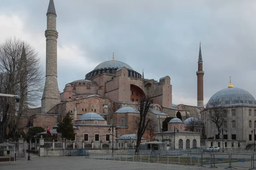
POLYGON ((205 138, 214 139, 207 140, 206 147, 222 148, 222 127, 224 149, 250 147, 256 140, 252 131, 256 128, 256 100, 248 91, 234 88, 231 79, 228 88, 218 91, 209 99, 207 108, 201 112, 201 120, 205 126, 205 138), (223 108, 221 112, 226 115, 221 126, 220 138, 217 127, 209 116, 212 103, 223 108))

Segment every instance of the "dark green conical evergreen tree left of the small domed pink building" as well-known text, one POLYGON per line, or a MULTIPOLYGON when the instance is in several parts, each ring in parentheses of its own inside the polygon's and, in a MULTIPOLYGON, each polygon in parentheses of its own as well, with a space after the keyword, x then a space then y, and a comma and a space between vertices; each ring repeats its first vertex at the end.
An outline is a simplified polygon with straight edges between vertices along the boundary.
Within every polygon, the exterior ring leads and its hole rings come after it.
POLYGON ((75 139, 75 130, 73 128, 73 119, 70 116, 70 112, 66 114, 61 122, 58 123, 57 132, 61 133, 61 137, 67 140, 75 139))

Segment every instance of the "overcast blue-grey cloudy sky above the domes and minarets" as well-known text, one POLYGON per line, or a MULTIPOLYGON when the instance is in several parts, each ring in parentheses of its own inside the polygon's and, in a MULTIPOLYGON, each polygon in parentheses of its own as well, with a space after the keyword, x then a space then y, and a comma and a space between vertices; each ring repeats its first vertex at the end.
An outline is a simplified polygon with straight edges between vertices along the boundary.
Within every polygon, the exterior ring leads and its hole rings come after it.
MULTIPOLYGON (((29 42, 45 67, 49 0, 1 0, 0 43, 29 42)), ((256 97, 255 0, 54 0, 58 86, 115 58, 159 80, 171 77, 173 103, 197 105, 198 51, 204 61, 204 102, 234 87, 256 97)))

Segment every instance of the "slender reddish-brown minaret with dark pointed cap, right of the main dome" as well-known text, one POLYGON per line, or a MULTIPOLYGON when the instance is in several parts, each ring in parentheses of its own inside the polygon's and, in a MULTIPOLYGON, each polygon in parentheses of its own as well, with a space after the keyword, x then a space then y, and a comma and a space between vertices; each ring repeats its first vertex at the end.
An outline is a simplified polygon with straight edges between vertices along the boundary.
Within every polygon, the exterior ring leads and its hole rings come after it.
POLYGON ((196 75, 198 77, 198 107, 204 107, 204 71, 203 59, 201 54, 201 42, 198 56, 198 71, 196 72, 196 75))

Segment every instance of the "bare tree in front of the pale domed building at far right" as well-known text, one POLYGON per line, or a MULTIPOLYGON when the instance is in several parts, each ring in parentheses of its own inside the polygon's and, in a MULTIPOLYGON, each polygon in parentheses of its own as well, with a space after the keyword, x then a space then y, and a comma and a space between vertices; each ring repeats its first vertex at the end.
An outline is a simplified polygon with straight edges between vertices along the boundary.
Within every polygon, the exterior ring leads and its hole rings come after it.
POLYGON ((218 100, 211 100, 207 103, 204 111, 207 111, 208 119, 212 121, 218 130, 218 139, 220 139, 221 127, 227 120, 227 110, 218 100))

